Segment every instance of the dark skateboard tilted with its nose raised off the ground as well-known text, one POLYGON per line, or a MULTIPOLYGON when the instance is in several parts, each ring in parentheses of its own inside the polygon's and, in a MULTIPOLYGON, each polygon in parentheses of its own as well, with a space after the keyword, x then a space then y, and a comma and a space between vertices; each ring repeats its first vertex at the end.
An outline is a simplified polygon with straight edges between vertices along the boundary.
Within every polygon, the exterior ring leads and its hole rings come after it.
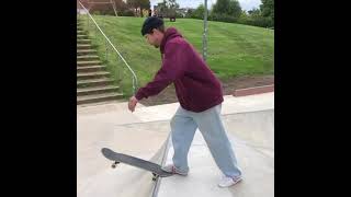
POLYGON ((161 165, 159 164, 141 160, 132 155, 122 154, 109 148, 101 149, 101 152, 106 159, 114 161, 114 163, 112 164, 113 169, 115 169, 120 163, 125 163, 151 172, 152 181, 156 181, 158 177, 167 177, 173 175, 172 173, 163 171, 161 169, 161 165))

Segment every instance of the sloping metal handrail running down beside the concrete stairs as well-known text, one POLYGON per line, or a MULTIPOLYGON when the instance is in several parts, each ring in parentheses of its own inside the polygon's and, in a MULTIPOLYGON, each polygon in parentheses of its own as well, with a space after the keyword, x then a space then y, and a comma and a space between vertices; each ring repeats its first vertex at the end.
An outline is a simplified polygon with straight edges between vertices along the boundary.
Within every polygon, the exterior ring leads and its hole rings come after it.
MULTIPOLYGON (((83 8, 83 10, 86 11, 86 14, 89 16, 89 19, 94 23, 95 27, 99 30, 99 32, 103 35, 105 42, 107 42, 110 44, 110 46, 113 48, 113 50, 118 55, 118 57, 122 59, 122 61, 124 62, 124 65, 128 68, 128 70, 131 71, 133 78, 133 94, 136 93, 136 89, 137 89, 137 84, 138 84, 138 80, 137 77, 135 74, 135 72, 133 71, 133 69, 131 68, 131 66, 127 63, 127 61, 123 58, 123 56, 121 55, 121 53, 116 49, 116 47, 111 43, 111 40, 109 39, 109 37, 104 34, 104 32, 100 28, 99 24, 97 23, 97 21, 92 18, 92 15, 89 13, 89 10, 80 2, 80 0, 77 0, 78 3, 81 5, 81 8, 83 8)), ((89 19, 88 19, 88 26, 89 26, 89 19)), ((106 44, 107 45, 107 44, 106 44)), ((106 47, 106 57, 107 57, 107 46, 106 47)))

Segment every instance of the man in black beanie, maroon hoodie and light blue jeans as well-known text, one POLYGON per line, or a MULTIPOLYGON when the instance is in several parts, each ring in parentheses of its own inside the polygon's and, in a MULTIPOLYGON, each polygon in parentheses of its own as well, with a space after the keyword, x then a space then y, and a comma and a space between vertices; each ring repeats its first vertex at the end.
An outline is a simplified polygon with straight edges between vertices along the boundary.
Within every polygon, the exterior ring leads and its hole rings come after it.
POLYGON ((174 83, 180 103, 171 119, 171 138, 174 148, 173 164, 162 169, 179 175, 188 175, 188 152, 195 131, 202 132, 215 162, 224 176, 219 187, 228 187, 241 181, 241 171, 220 118, 223 99, 220 82, 205 61, 173 27, 165 30, 163 21, 151 16, 145 20, 141 35, 160 48, 162 66, 154 80, 139 89, 128 103, 134 112, 138 101, 157 95, 174 83))

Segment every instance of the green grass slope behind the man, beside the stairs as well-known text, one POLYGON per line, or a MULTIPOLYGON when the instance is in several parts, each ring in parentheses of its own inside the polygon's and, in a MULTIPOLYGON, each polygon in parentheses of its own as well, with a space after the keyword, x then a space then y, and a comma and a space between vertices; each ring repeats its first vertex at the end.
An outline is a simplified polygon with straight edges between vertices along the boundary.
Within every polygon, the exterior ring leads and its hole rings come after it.
MULTIPOLYGON (((93 18, 136 72, 138 86, 152 80, 161 66, 161 59, 159 49, 148 45, 140 34, 145 18, 104 15, 93 15, 93 18)), ((87 16, 81 16, 81 20, 87 30, 87 16)), ((169 20, 165 22, 166 27, 177 27, 202 54, 202 20, 177 19, 177 22, 169 20)), ((125 69, 122 60, 112 53, 111 47, 107 59, 104 58, 105 42, 101 34, 92 28, 91 21, 89 33, 100 56, 115 79, 123 78, 123 90, 131 95, 132 74, 125 69)), ((274 74, 274 30, 208 21, 207 47, 207 63, 220 79, 274 74)))

